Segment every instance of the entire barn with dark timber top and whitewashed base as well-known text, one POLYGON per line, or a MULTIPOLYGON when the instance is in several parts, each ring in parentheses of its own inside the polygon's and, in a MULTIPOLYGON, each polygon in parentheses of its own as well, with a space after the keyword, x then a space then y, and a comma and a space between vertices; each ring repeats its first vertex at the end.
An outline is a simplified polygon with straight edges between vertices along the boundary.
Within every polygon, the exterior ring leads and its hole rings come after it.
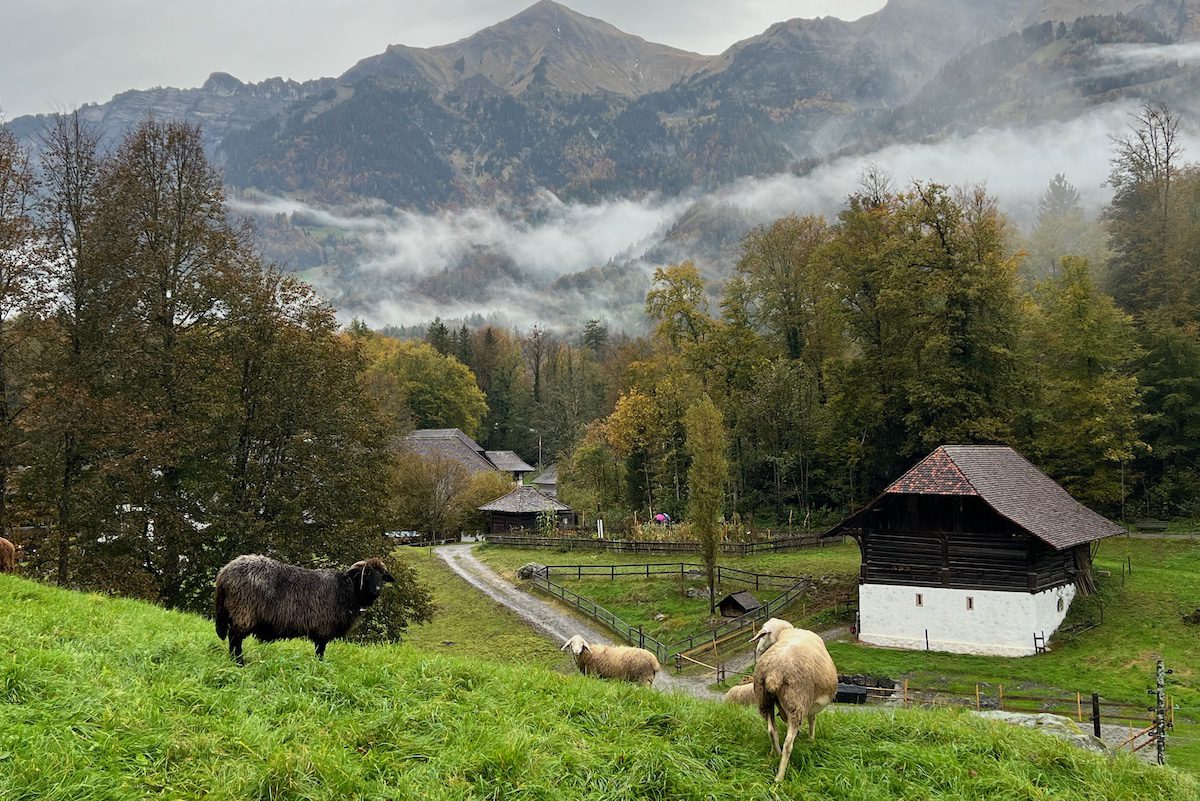
POLYGON ((1010 447, 944 445, 824 536, 863 556, 859 639, 955 654, 1034 654, 1092 548, 1123 534, 1010 447))

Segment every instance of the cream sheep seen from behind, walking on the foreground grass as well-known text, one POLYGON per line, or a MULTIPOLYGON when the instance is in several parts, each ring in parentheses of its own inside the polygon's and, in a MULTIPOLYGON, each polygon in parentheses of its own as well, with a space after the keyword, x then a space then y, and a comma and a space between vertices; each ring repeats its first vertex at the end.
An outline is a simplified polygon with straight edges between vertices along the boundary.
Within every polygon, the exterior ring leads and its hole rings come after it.
POLYGON ((769 645, 755 666, 754 692, 758 712, 767 721, 770 745, 780 755, 775 773, 775 782, 779 783, 787 772, 796 734, 805 721, 809 723, 809 739, 816 739, 817 712, 838 694, 838 669, 818 634, 796 628, 786 620, 768 620, 750 642, 761 644, 764 640, 769 640, 769 645), (782 748, 775 733, 776 706, 787 721, 782 748))

